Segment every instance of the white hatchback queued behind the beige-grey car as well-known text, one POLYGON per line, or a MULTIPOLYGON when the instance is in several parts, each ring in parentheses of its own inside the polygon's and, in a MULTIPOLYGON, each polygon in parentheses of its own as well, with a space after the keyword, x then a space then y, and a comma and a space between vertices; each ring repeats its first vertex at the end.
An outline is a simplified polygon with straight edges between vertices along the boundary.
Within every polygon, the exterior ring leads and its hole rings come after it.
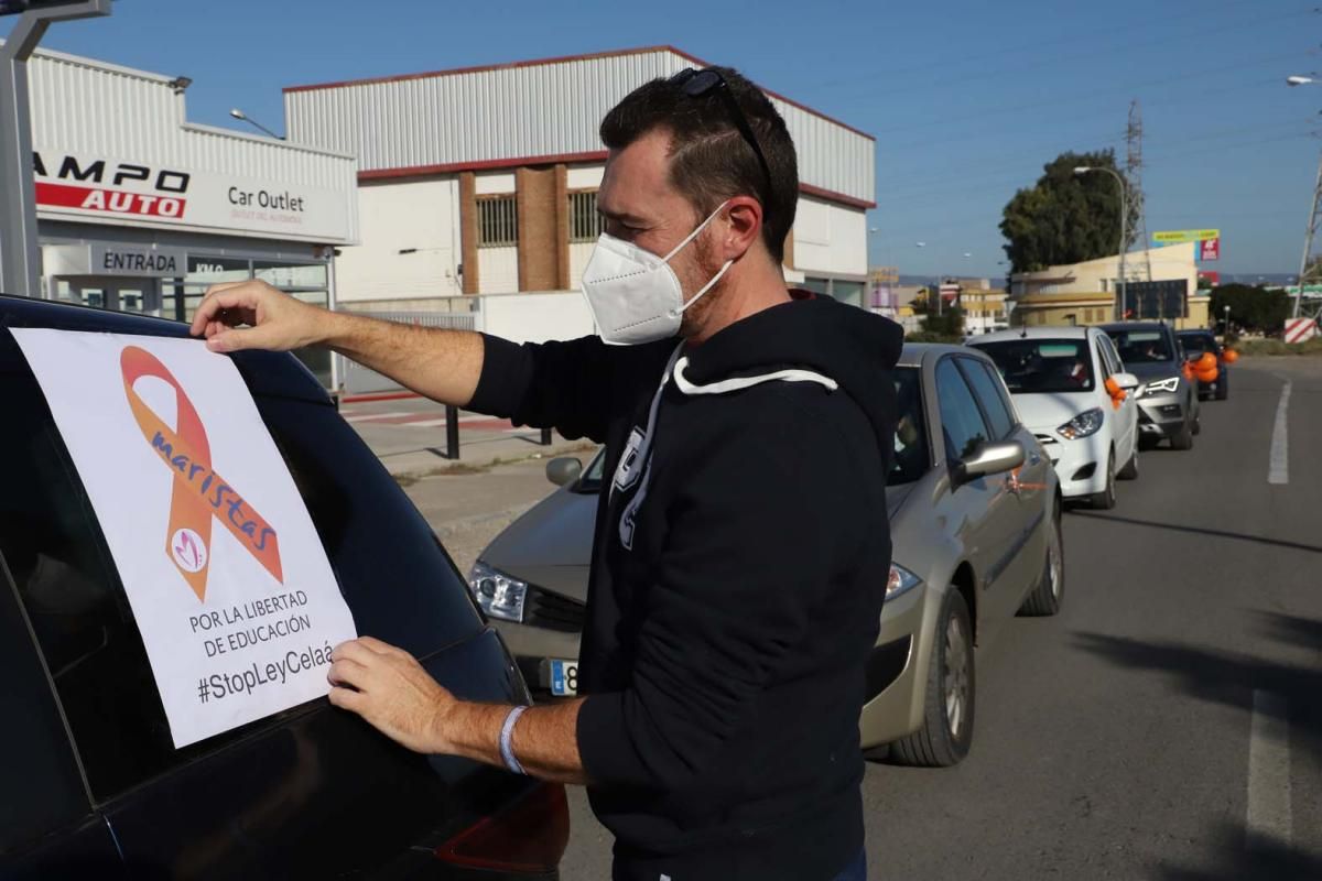
POLYGON ((1019 419, 1051 456, 1067 499, 1116 505, 1116 478, 1138 477, 1138 379, 1097 328, 1022 328, 969 345, 995 362, 1019 419))

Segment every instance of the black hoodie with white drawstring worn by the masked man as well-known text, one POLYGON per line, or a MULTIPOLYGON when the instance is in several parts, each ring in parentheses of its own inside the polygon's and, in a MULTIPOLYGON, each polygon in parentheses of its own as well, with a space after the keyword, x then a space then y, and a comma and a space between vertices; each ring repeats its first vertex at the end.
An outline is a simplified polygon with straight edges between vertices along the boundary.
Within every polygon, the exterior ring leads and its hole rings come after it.
POLYGON ((862 849, 900 345, 828 299, 695 347, 485 338, 473 409, 607 445, 578 740, 616 878, 830 881, 862 849))

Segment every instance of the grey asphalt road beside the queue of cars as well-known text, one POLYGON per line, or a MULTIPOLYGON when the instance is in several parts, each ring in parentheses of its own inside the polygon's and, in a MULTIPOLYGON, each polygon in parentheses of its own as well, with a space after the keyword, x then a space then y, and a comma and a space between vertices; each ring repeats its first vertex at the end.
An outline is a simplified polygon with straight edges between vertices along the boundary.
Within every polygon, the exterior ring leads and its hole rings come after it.
MULTIPOLYGON (((870 877, 1322 878, 1319 449, 1322 362, 1241 362, 1191 452, 1068 514, 1064 609, 978 655, 969 758, 869 763, 870 877)), ((562 877, 609 877, 571 804, 562 877)))

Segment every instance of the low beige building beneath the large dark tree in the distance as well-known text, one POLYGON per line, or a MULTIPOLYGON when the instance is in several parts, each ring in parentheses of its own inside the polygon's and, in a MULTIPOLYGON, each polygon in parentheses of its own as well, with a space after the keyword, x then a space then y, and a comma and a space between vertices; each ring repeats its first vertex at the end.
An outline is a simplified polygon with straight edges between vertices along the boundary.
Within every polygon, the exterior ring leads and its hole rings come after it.
POLYGON ((1124 317, 1206 328, 1210 297, 1198 289, 1194 250, 1195 243, 1187 242, 1126 254, 1124 285, 1118 255, 1017 272, 1010 277, 1011 324, 1089 325, 1124 317), (1151 265, 1150 281, 1144 268, 1145 255, 1151 265))

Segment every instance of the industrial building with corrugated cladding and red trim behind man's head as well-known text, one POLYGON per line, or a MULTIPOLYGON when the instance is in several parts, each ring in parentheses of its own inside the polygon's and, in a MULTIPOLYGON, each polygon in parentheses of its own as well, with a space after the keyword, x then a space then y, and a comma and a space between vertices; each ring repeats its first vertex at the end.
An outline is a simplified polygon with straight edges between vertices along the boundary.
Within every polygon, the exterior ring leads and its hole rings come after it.
MULTIPOLYGON (((447 299, 575 291, 600 232, 602 118, 706 65, 656 46, 286 88, 292 144, 358 160, 361 244, 337 260, 340 302, 457 310, 447 299)), ((787 279, 865 305, 875 141, 768 95, 798 149, 787 279)))

